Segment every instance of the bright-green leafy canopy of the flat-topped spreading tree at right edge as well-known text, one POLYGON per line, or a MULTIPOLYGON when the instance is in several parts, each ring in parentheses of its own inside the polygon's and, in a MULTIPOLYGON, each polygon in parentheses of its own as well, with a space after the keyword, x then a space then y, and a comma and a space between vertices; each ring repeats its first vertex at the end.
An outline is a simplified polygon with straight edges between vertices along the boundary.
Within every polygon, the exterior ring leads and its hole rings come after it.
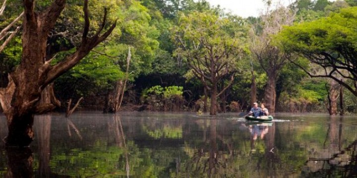
POLYGON ((327 18, 285 27, 278 38, 288 51, 318 53, 338 50, 340 46, 356 47, 356 18, 356 7, 343 9, 327 18))

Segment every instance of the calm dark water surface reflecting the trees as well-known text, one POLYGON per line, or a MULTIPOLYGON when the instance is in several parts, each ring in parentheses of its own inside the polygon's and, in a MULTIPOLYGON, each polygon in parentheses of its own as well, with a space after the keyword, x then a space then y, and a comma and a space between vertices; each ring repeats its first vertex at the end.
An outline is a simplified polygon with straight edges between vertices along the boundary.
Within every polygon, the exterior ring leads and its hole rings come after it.
MULTIPOLYGON (((0 178, 357 177, 357 118, 77 112, 35 117, 28 149, 0 142, 0 178)), ((0 116, 0 137, 7 134, 0 116)))

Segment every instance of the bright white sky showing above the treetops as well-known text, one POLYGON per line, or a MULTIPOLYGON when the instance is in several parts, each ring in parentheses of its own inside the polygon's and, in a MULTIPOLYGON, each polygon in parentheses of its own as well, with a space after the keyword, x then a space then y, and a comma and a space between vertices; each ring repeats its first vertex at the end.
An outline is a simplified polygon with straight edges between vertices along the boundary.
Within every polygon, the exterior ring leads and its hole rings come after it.
MULTIPOLYGON (((221 8, 225 8, 227 11, 231 11, 233 14, 241 17, 259 16, 260 12, 264 9, 263 0, 207 0, 211 5, 221 8)), ((278 0, 272 0, 275 4, 278 0)), ((283 5, 287 6, 295 0, 280 0, 283 5)), ((274 5, 272 5, 274 7, 274 5)))

